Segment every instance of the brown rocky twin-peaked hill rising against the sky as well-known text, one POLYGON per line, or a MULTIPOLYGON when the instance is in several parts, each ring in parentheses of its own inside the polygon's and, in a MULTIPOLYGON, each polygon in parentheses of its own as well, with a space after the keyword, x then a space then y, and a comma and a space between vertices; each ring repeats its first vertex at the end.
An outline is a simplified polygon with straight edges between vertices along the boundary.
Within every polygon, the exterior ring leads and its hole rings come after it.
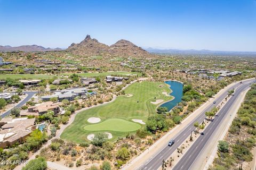
POLYGON ((130 41, 121 39, 115 44, 108 46, 99 43, 97 39, 92 39, 89 35, 78 44, 71 44, 67 51, 81 56, 121 56, 121 57, 138 57, 138 58, 152 58, 154 55, 148 53, 131 43, 130 41))

